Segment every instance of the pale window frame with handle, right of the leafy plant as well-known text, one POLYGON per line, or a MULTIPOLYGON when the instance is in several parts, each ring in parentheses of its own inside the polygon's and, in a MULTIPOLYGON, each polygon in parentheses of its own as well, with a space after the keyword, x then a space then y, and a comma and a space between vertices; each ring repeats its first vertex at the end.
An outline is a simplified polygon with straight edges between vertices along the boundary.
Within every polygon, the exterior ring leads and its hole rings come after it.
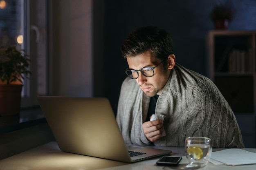
POLYGON ((32 75, 29 75, 28 79, 24 79, 24 86, 22 89, 22 99, 21 99, 21 108, 30 108, 34 106, 38 106, 38 102, 36 100, 37 95, 47 95, 48 94, 48 74, 47 74, 47 63, 48 63, 48 0, 22 0, 23 7, 22 7, 22 33, 23 33, 23 44, 22 49, 25 49, 26 53, 29 54, 31 62, 29 66, 29 70, 31 71, 32 75), (44 7, 43 10, 39 10, 38 7, 44 7), (39 13, 40 11, 41 13, 39 13), (42 15, 45 14, 44 16, 42 15), (38 16, 41 15, 41 16, 38 16), (44 26, 40 27, 39 24, 42 24, 42 20, 38 20, 38 17, 44 21, 44 26), (45 17, 45 18, 43 18, 45 17), (40 23, 39 23, 40 22, 40 23), (44 31, 44 33, 42 33, 44 31), (43 51, 45 53, 44 56, 38 55, 38 44, 44 40, 44 46, 42 46, 43 51), (43 82, 44 84, 44 93, 38 93, 38 81, 39 79, 39 72, 38 65, 39 57, 42 57, 43 62, 43 82))

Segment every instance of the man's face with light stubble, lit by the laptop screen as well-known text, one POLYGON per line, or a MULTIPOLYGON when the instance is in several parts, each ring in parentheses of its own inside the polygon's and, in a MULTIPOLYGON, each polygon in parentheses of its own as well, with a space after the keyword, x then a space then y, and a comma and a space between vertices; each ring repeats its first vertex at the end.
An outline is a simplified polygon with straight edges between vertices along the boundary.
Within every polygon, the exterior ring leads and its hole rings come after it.
MULTIPOLYGON (((146 66, 154 67, 162 62, 161 60, 153 57, 149 51, 135 57, 127 57, 126 59, 129 69, 133 70, 140 70, 146 66)), ((139 71, 139 77, 135 79, 141 90, 150 97, 153 97, 156 94, 159 95, 162 92, 164 85, 170 76, 171 69, 167 66, 167 68, 164 70, 162 64, 160 64, 154 68, 154 73, 155 74, 153 77, 146 77, 139 71)))

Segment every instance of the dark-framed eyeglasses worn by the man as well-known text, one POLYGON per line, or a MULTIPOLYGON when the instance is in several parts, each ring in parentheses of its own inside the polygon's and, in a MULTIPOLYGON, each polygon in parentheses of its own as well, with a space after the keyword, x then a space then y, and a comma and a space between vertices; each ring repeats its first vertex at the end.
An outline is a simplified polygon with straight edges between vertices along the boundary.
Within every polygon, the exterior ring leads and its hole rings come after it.
MULTIPOLYGON (((164 60, 162 60, 164 62, 164 60)), ((130 77, 131 79, 137 79, 139 77, 139 71, 141 72, 142 75, 145 77, 153 77, 154 76, 154 68, 159 66, 162 62, 157 64, 154 67, 143 67, 140 70, 126 70, 125 73, 130 77)))

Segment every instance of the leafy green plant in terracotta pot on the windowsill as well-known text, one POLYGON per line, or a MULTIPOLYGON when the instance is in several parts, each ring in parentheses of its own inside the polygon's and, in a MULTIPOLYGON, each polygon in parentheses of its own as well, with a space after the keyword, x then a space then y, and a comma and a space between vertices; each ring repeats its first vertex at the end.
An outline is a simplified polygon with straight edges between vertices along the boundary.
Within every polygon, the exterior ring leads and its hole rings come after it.
POLYGON ((0 47, 0 116, 19 115, 22 79, 31 72, 29 55, 16 46, 0 47))

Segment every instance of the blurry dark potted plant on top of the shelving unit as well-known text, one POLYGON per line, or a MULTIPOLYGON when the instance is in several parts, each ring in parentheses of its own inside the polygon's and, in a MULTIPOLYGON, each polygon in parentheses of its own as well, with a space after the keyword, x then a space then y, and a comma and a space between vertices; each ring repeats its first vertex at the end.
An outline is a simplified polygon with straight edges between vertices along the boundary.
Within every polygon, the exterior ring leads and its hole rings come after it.
POLYGON ((216 29, 227 29, 227 26, 234 18, 234 15, 235 11, 233 6, 227 2, 217 4, 210 14, 216 29))

